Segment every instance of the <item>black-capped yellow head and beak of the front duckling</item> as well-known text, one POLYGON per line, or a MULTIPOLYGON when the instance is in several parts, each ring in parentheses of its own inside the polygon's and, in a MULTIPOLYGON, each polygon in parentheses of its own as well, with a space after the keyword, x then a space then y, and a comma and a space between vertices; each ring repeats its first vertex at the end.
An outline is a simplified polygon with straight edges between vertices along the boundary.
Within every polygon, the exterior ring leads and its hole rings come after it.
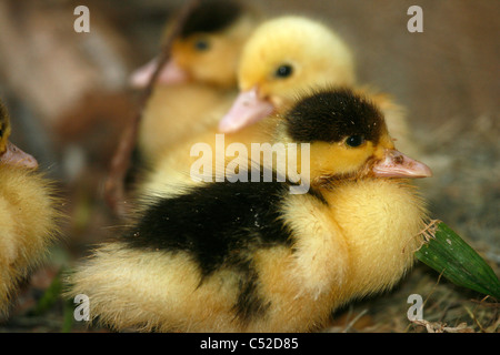
POLYGON ((431 176, 431 170, 394 148, 381 111, 350 89, 303 95, 281 119, 278 139, 310 144, 311 185, 346 179, 431 176))

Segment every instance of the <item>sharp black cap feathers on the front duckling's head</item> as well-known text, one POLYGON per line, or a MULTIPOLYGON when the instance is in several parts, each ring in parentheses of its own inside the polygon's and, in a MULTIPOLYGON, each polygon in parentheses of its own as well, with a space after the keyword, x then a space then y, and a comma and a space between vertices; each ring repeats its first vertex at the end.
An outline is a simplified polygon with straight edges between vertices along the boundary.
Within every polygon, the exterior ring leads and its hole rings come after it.
MULTIPOLYGON (((321 90, 306 95, 284 118, 288 134, 296 142, 333 143, 360 136, 377 144, 387 130, 379 109, 349 89, 321 90)), ((352 143, 356 144, 356 139, 352 143)))

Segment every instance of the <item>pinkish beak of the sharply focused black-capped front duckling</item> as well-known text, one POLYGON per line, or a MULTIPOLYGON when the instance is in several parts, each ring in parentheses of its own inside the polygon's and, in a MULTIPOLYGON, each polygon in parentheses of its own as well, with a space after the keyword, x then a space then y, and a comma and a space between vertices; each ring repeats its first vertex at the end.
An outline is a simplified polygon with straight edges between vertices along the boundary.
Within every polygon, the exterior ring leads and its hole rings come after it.
POLYGON ((384 158, 378 161, 371 170, 374 176, 379 178, 417 179, 432 176, 429 166, 393 149, 386 149, 384 158))

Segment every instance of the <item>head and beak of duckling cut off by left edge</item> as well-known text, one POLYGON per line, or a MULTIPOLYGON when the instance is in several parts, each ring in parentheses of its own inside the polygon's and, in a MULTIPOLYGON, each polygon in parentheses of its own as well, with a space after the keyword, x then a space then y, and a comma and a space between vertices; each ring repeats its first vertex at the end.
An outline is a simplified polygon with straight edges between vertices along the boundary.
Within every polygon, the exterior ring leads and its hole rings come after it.
POLYGON ((0 164, 10 164, 28 169, 38 168, 37 160, 9 142, 11 125, 9 113, 0 102, 0 164))

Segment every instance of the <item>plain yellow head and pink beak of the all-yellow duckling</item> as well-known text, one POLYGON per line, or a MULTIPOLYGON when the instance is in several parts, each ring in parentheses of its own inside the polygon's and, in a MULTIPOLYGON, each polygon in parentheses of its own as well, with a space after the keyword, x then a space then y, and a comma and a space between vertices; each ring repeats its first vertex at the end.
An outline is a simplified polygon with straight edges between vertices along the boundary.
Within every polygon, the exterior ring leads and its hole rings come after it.
POLYGON ((354 83, 352 54, 328 27, 301 17, 262 23, 248 40, 238 68, 240 94, 219 130, 236 132, 294 99, 298 90, 354 83))

